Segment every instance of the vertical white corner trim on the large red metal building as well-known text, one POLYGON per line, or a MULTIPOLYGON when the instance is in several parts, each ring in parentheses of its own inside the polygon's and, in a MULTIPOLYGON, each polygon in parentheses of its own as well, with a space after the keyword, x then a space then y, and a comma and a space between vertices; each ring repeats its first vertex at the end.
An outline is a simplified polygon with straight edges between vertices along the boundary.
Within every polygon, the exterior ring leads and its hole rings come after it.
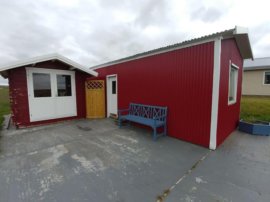
POLYGON ((209 148, 213 150, 215 150, 217 146, 220 61, 221 61, 221 37, 218 40, 215 40, 214 44, 213 92, 212 92, 210 143, 209 143, 209 148))

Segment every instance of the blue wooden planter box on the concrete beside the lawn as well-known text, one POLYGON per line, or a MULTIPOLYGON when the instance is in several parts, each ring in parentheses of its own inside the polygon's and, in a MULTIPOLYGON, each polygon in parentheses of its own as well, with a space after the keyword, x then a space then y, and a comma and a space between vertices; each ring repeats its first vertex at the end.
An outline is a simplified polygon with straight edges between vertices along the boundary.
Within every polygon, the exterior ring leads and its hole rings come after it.
POLYGON ((265 121, 253 120, 255 122, 266 123, 267 125, 239 122, 238 130, 253 134, 253 135, 270 135, 270 123, 265 121))

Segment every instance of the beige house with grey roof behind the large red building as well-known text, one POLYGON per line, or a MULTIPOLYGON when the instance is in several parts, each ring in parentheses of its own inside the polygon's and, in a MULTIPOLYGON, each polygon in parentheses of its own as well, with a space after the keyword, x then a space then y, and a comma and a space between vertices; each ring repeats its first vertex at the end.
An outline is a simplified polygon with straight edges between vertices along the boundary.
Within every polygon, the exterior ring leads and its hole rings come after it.
POLYGON ((270 57, 244 60, 242 95, 270 96, 270 57))

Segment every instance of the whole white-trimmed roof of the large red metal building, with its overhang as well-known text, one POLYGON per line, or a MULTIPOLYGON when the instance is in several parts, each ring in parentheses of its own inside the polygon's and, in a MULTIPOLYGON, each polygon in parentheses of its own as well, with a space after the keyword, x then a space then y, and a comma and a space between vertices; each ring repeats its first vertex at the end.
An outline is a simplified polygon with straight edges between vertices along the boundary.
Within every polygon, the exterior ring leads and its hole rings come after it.
POLYGON ((224 38, 233 38, 233 37, 237 41, 237 45, 239 47, 242 58, 243 59, 251 58, 253 60, 253 51, 252 51, 252 47, 251 47, 248 28, 235 26, 234 29, 225 30, 223 32, 213 33, 211 35, 202 36, 200 38, 194 38, 194 39, 191 39, 191 40, 188 40, 188 41, 183 41, 182 43, 175 43, 175 44, 170 45, 170 46, 165 46, 165 47, 162 47, 162 48, 158 48, 158 49, 154 49, 154 50, 151 50, 151 51, 146 51, 146 52, 143 52, 143 53, 135 54, 135 55, 125 57, 125 58, 121 58, 121 59, 118 59, 118 60, 114 60, 114 61, 111 61, 111 62, 106 62, 106 63, 103 63, 103 64, 96 65, 94 67, 90 67, 90 69, 95 70, 95 69, 106 67, 106 66, 113 65, 113 64, 118 64, 118 63, 130 61, 130 60, 135 60, 135 59, 139 59, 139 58, 143 58, 143 57, 148 57, 148 56, 151 56, 151 55, 165 53, 165 52, 168 52, 168 51, 182 49, 182 48, 186 48, 186 47, 189 47, 189 46, 195 46, 195 45, 198 45, 198 44, 207 43, 207 42, 210 42, 210 41, 215 41, 215 40, 217 40, 219 38, 224 39, 224 38))

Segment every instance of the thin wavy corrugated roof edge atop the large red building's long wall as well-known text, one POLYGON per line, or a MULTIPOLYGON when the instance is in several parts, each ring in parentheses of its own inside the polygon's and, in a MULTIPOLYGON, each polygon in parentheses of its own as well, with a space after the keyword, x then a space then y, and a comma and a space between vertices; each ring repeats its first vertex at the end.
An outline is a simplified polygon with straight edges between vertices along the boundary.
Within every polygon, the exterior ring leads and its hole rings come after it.
POLYGON ((131 59, 133 57, 137 57, 137 56, 140 56, 140 55, 149 54, 149 53, 156 52, 156 51, 161 51, 163 49, 170 49, 170 48, 173 48, 175 46, 182 45, 182 44, 187 43, 187 42, 196 41, 196 40, 199 40, 199 39, 202 39, 202 38, 206 38, 206 37, 210 37, 210 36, 214 36, 214 35, 225 34, 225 33, 228 33, 228 32, 232 32, 234 30, 235 30, 235 28, 234 29, 230 29, 230 30, 224 30, 222 32, 217 32, 217 33, 213 33, 213 34, 210 34, 210 35, 205 35, 205 36, 202 36, 202 37, 199 37, 199 38, 194 38, 194 39, 191 39, 191 40, 183 41, 181 43, 175 43, 173 45, 164 46, 164 47, 161 47, 161 48, 158 48, 158 49, 154 49, 154 50, 151 50, 151 51, 146 51, 146 52, 143 52, 143 53, 138 53, 138 54, 135 54, 135 55, 132 55, 132 56, 128 56, 128 57, 124 57, 124 58, 121 58, 121 59, 117 59, 117 60, 114 60, 114 61, 111 61, 111 62, 106 62, 106 63, 103 63, 103 64, 99 64, 99 65, 90 67, 90 69, 94 70, 94 69, 97 69, 97 68, 100 68, 100 67, 104 66, 105 64, 110 65, 111 63, 114 63, 114 62, 118 62, 118 61, 122 61, 122 60, 126 60, 126 59, 131 59))

